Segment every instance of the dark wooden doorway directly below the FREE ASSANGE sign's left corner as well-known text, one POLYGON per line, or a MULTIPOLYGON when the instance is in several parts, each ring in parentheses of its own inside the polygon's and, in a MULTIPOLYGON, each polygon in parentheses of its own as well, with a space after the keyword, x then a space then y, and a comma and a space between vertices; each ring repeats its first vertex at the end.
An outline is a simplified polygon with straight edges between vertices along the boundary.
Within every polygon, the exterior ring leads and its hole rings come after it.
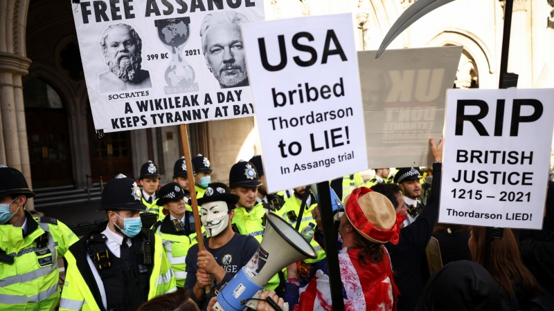
MULTIPOLYGON (((119 173, 133 177, 133 164, 131 158, 131 133, 122 131, 115 133, 105 133, 102 138, 98 138, 92 113, 89 107, 89 150, 91 152, 91 173, 95 177, 114 178, 119 173)), ((93 182, 98 182, 94 180, 93 182)))

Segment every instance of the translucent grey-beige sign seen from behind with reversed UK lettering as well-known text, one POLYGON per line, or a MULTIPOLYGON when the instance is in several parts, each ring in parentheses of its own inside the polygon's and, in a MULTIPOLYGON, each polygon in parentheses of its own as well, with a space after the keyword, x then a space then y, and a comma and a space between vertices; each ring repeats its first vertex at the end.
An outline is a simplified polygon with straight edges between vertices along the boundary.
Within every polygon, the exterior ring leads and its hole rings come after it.
POLYGON ((461 46, 358 52, 368 166, 429 166, 427 140, 443 134, 445 97, 461 46))

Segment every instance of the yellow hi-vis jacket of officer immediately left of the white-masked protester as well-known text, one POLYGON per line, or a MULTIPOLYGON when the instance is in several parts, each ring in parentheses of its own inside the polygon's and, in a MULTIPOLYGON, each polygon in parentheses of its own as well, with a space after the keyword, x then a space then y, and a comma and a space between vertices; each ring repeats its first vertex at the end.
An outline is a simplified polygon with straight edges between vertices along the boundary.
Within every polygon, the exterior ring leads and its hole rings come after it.
POLYGON ((170 216, 167 216, 163 221, 155 223, 152 229, 161 237, 163 252, 166 253, 166 257, 175 273, 177 287, 183 288, 186 281, 186 254, 190 246, 198 243, 196 232, 194 232, 193 239, 190 238, 192 234, 186 235, 186 232, 176 232, 175 227, 171 223, 170 216))

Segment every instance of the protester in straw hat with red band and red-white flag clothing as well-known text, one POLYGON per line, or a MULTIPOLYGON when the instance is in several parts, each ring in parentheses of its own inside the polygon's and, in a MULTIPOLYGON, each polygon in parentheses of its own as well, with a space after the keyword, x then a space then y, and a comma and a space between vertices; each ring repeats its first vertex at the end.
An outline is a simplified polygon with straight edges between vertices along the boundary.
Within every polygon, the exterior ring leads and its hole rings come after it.
MULTIPOLYGON (((393 280, 390 258, 384 243, 397 243, 403 217, 390 200, 366 187, 354 189, 346 198, 339 234, 343 249, 339 269, 345 310, 396 310, 399 294, 393 280)), ((315 270, 315 269, 314 269, 315 270)), ((332 310, 327 270, 316 270, 303 288, 298 270, 287 267, 285 301, 294 310, 332 310)))

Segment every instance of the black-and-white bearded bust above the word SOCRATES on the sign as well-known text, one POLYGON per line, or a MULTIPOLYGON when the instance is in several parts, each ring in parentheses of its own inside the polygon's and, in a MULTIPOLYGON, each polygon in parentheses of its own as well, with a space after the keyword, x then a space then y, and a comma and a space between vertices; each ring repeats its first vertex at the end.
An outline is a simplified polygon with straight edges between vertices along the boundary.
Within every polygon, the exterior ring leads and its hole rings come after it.
POLYGON ((100 38, 102 56, 109 67, 98 76, 101 93, 151 88, 150 73, 141 69, 143 42, 125 23, 108 26, 100 38))

